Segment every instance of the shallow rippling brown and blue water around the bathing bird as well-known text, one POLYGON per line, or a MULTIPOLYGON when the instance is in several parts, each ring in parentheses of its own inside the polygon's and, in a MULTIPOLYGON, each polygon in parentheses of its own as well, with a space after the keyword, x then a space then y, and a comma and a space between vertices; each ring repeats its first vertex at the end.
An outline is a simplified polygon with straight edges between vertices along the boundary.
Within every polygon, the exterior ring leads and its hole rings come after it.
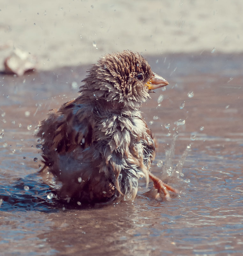
POLYGON ((141 179, 134 202, 98 209, 69 209, 48 198, 48 175, 36 174, 41 156, 33 136, 49 109, 77 97, 87 67, 23 77, 1 74, 0 255, 241 255, 242 57, 147 58, 153 71, 170 82, 142 108, 158 142, 152 172, 180 194, 155 200, 147 192, 152 184, 146 188, 141 179), (160 94, 164 99, 158 107, 160 94), (175 169, 188 145, 184 176, 168 175, 166 164, 170 161, 175 169), (166 151, 173 159, 166 158, 166 151))

